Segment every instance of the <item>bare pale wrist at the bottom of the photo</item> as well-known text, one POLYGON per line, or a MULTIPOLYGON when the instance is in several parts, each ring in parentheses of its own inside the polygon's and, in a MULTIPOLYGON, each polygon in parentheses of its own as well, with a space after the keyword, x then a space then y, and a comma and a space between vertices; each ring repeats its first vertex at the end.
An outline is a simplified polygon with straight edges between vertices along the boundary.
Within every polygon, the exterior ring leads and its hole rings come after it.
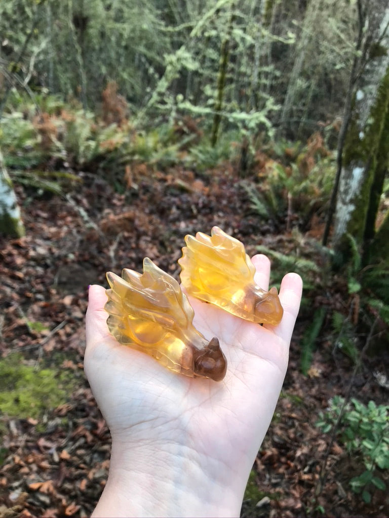
POLYGON ((238 478, 186 445, 114 440, 93 516, 239 516, 246 480, 242 488, 238 478))

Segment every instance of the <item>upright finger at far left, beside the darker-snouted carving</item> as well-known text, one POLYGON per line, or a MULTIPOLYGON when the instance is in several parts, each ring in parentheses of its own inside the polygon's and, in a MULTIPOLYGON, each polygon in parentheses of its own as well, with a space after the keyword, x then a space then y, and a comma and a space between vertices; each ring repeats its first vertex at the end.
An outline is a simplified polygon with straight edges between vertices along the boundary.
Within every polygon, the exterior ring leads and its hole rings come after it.
POLYGON ((106 323, 108 314, 104 309, 106 301, 107 296, 103 286, 93 284, 89 287, 89 302, 86 314, 87 347, 109 335, 106 323))

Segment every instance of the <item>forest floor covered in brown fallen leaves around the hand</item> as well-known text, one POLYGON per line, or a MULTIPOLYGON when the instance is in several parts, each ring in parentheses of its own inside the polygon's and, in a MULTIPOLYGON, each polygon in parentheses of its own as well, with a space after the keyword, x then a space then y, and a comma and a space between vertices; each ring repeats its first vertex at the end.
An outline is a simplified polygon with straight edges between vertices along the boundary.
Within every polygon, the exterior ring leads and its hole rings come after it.
MULTIPOLYGON (((88 284, 106 285, 107 270, 140 271, 145 256, 178 278, 184 236, 210 233, 213 225, 240 239, 249 255, 259 244, 287 254, 302 243, 310 254, 322 230, 307 228, 297 243, 293 232, 264 222, 248 208, 247 194, 227 166, 207 177, 178 167, 166 174, 143 170, 124 194, 100 177, 79 176, 82 182, 63 197, 37 197, 18 187, 26 237, 0 239, 0 384, 12 399, 0 405, 4 517, 87 516, 106 482, 109 432, 82 370, 88 284), (17 379, 16 364, 24 367, 17 379)), ((310 296, 242 516, 388 516, 387 492, 372 490, 369 505, 352 493, 348 482, 364 470, 362 462, 337 441, 327 451, 330 437, 315 426, 329 399, 348 390, 353 363, 334 354, 328 336, 320 340, 308 376, 302 375, 301 338, 313 308, 344 304, 336 292, 310 296)), ((387 389, 373 376, 377 369, 389 370, 387 352, 365 359, 353 396, 387 403, 387 389)))

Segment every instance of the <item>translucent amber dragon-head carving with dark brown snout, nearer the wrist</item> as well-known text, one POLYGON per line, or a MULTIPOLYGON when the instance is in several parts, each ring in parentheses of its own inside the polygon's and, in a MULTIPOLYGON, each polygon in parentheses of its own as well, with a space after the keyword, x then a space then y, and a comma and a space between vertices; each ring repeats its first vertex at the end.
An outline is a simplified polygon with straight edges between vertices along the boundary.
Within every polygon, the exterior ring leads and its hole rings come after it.
POLYGON ((148 257, 143 274, 124 268, 106 274, 109 332, 163 366, 190 377, 220 381, 227 362, 218 339, 208 342, 193 326, 194 312, 178 282, 148 257))

